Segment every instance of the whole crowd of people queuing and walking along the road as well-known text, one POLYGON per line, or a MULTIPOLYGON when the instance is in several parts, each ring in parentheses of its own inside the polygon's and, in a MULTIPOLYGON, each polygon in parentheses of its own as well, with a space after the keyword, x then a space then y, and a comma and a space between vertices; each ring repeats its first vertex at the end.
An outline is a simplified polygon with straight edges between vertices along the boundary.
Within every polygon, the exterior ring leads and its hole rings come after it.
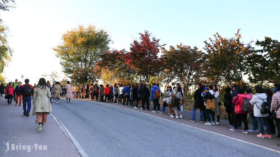
MULTIPOLYGON (((36 123, 41 126, 39 126, 40 130, 46 121, 46 115, 51 112, 50 104, 52 100, 58 103, 60 97, 65 97, 68 103, 70 103, 71 98, 90 99, 91 101, 120 103, 122 106, 135 106, 134 109, 138 109, 138 104, 141 103, 142 110, 150 110, 150 105, 153 103, 153 113, 164 114, 167 107, 171 118, 183 118, 183 104, 186 97, 180 83, 177 83, 176 87, 173 88, 167 85, 164 92, 161 92, 159 84, 152 83, 150 87, 147 82, 139 85, 138 83, 134 85, 129 83, 106 84, 104 87, 102 84, 98 85, 97 83, 71 85, 70 81, 67 81, 67 84, 62 86, 56 81, 51 85, 49 81, 46 82, 44 78, 41 78, 37 85, 32 86, 28 83, 28 79, 25 80, 24 85, 21 82, 17 82, 17 80, 13 83, 8 83, 6 87, 1 83, 1 96, 3 97, 5 93, 8 104, 11 104, 14 99, 16 101, 15 105, 21 106, 22 101, 23 114, 27 117, 31 109, 32 95, 33 104, 34 102, 41 106, 49 104, 45 106, 46 108, 43 107, 47 109, 43 110, 44 112, 39 107, 33 108, 33 114, 39 113, 37 114, 36 123), (40 99, 38 99, 38 96, 40 99), (44 96, 44 99, 41 96, 44 96), (163 97, 162 107, 160 107, 161 97, 163 97), (48 103, 45 102, 46 98, 48 103)), ((276 128, 280 130, 280 110, 278 110, 280 106, 280 83, 274 84, 273 91, 269 88, 263 89, 257 86, 254 88, 254 95, 252 89, 243 89, 243 87, 238 87, 237 85, 234 85, 233 89, 226 87, 224 91, 223 105, 228 115, 230 131, 238 132, 239 129, 242 129, 243 122, 244 129, 242 132, 246 134, 259 132, 257 137, 261 138, 272 138, 272 135, 277 135, 276 128), (249 114, 253 125, 251 129, 248 127, 247 114, 249 114), (266 130, 263 124, 266 126, 266 130), (264 133, 265 131, 267 132, 266 134, 264 133)), ((200 118, 198 122, 204 122, 205 125, 218 125, 220 124, 221 107, 221 93, 217 85, 205 87, 198 83, 197 90, 194 92, 192 119, 189 121, 195 122, 196 111, 199 109, 200 118)), ((279 131, 276 137, 280 137, 279 131)))

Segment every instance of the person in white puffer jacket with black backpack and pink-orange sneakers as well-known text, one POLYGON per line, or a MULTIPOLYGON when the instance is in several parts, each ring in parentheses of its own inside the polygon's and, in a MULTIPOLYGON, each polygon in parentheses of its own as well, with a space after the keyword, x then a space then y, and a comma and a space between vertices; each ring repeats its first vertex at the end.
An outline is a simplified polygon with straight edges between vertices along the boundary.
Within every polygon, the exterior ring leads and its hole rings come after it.
POLYGON ((251 99, 250 103, 254 104, 254 116, 257 118, 258 124, 259 124, 259 135, 257 137, 261 138, 271 138, 271 132, 270 132, 270 126, 267 121, 268 113, 262 114, 260 112, 260 109, 262 108, 262 105, 264 102, 266 102, 267 96, 264 93, 264 89, 262 87, 256 86, 255 87, 255 95, 253 95, 253 98, 251 99), (267 134, 264 134, 264 124, 266 126, 267 134))

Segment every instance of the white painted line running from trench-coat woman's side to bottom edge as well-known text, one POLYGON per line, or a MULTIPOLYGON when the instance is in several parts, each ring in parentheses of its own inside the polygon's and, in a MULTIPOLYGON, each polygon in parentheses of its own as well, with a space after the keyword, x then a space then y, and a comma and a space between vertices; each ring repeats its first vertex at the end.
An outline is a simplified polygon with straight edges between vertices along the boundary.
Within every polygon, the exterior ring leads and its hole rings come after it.
POLYGON ((61 123, 61 121, 59 121, 53 113, 50 113, 54 120, 58 123, 58 125, 60 126, 60 128, 63 130, 64 134, 70 138, 73 146, 76 148, 76 150, 78 151, 78 153, 82 156, 82 157, 88 157, 86 151, 83 149, 83 147, 79 144, 79 142, 76 140, 76 138, 71 134, 71 132, 63 125, 63 123, 61 123))

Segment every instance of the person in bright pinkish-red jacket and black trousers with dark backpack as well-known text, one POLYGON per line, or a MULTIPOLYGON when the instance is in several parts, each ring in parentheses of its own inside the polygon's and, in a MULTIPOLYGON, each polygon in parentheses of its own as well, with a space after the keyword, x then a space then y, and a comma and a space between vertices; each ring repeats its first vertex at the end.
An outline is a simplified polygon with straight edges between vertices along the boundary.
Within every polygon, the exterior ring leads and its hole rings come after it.
POLYGON ((232 104, 235 106, 235 114, 233 117, 233 127, 230 129, 230 131, 238 131, 238 122, 240 122, 240 119, 242 119, 244 123, 244 130, 242 132, 249 133, 248 131, 248 121, 247 121, 247 113, 242 110, 243 106, 243 100, 247 98, 247 96, 244 94, 244 89, 242 87, 239 87, 237 89, 238 94, 233 98, 232 104))

